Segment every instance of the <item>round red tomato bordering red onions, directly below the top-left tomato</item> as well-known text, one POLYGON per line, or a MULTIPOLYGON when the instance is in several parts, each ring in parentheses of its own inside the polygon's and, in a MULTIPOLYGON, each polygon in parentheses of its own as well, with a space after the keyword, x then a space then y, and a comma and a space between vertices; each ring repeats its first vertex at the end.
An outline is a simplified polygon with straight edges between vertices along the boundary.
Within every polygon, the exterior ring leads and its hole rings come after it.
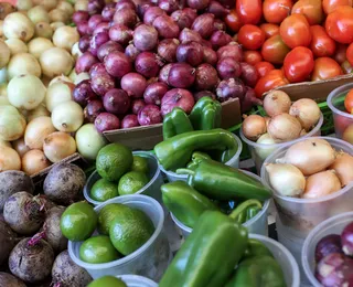
POLYGON ((243 25, 238 32, 238 43, 248 50, 257 50, 265 42, 265 32, 256 25, 243 25))

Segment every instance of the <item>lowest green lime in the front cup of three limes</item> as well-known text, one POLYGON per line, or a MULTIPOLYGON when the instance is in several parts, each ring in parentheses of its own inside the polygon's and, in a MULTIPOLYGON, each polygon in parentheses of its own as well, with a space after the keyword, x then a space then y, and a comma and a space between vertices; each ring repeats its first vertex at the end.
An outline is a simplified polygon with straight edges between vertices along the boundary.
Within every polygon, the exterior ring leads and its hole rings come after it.
POLYGON ((87 263, 107 263, 120 258, 106 235, 98 235, 86 240, 79 246, 79 258, 87 263))

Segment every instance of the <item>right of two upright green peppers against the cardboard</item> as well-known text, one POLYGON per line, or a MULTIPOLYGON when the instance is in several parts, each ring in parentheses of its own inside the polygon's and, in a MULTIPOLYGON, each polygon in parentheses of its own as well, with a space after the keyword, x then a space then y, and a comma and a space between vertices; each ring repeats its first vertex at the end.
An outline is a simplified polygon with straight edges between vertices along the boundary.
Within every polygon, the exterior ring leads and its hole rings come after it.
POLYGON ((211 97, 202 97, 190 113, 190 121, 195 130, 208 130, 221 127, 222 106, 211 97))

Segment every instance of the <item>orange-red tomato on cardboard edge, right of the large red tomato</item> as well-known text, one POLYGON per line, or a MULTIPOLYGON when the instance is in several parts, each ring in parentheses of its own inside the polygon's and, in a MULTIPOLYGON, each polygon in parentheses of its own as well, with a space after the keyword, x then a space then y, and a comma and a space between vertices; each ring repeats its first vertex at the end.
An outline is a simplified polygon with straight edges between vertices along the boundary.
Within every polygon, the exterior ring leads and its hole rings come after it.
POLYGON ((338 62, 331 57, 318 57, 314 62, 311 81, 321 81, 336 77, 343 74, 343 71, 338 62))

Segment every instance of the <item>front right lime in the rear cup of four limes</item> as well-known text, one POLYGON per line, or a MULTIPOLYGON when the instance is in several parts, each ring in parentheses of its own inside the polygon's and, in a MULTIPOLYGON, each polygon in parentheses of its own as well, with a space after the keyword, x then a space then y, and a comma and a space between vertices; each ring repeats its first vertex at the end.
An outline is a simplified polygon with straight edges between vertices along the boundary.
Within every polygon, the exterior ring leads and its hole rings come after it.
POLYGON ((146 173, 140 171, 129 171, 119 180, 118 191, 120 195, 133 194, 149 182, 146 173))

